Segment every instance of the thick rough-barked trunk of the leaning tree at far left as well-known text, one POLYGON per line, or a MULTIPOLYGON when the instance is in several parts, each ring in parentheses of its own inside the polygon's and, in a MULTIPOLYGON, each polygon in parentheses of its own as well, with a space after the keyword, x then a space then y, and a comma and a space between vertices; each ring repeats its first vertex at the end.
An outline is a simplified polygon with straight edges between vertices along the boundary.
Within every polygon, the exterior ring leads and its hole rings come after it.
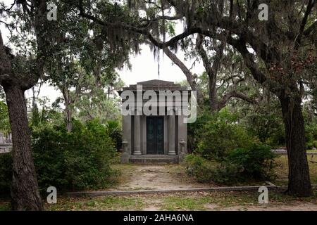
POLYGON ((13 139, 13 210, 44 210, 32 158, 30 129, 24 91, 19 86, 4 86, 13 139))

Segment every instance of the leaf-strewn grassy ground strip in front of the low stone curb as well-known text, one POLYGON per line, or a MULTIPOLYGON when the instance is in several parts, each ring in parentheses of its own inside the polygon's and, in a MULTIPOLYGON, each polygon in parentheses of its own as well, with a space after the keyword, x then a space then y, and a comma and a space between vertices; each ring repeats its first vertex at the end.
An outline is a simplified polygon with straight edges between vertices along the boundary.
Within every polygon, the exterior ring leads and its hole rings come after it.
MULTIPOLYGON (((46 210, 317 210, 317 192, 310 198, 293 198, 276 191, 269 192, 269 203, 258 203, 257 192, 163 193, 151 195, 105 196, 95 198, 58 198, 46 210)), ((9 203, 0 202, 0 210, 9 203)))

